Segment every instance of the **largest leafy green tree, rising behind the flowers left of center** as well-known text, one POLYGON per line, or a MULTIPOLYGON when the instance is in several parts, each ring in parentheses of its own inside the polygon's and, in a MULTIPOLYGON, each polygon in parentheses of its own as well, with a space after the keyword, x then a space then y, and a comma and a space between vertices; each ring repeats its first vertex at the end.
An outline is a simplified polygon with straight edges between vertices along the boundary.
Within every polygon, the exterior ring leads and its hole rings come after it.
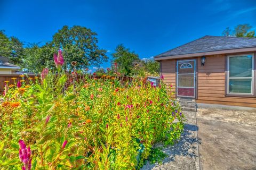
POLYGON ((85 69, 91 65, 99 66, 99 64, 106 62, 106 50, 98 47, 97 33, 75 25, 69 28, 67 25, 63 26, 57 33, 53 35, 50 42, 57 52, 58 48, 63 49, 65 56, 65 69, 70 68, 70 63, 77 62, 76 69, 85 69))

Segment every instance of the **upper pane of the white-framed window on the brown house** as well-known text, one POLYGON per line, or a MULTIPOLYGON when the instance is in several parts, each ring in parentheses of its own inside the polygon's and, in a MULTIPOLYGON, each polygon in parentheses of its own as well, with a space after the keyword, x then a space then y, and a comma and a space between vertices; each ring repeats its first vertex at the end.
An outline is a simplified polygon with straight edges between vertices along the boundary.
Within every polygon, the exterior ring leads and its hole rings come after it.
POLYGON ((229 77, 252 77, 252 55, 229 57, 229 77))

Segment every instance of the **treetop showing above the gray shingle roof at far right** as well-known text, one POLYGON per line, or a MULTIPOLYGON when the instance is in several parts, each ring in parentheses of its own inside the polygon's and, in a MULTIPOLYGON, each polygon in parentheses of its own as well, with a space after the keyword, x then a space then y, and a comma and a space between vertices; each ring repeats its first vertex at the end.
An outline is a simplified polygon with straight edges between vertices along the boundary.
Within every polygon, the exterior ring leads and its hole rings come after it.
POLYGON ((222 36, 235 36, 235 37, 254 37, 255 31, 251 31, 252 26, 250 24, 238 24, 234 30, 227 27, 222 36))

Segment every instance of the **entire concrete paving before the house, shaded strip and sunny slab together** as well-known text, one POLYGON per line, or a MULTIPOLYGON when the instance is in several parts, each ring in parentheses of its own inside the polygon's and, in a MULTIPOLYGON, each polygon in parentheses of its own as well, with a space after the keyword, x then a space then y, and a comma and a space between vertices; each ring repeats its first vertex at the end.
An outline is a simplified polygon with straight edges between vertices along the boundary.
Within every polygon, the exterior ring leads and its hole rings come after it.
POLYGON ((163 149, 163 164, 146 169, 256 169, 256 113, 198 109, 187 117, 180 141, 163 149))

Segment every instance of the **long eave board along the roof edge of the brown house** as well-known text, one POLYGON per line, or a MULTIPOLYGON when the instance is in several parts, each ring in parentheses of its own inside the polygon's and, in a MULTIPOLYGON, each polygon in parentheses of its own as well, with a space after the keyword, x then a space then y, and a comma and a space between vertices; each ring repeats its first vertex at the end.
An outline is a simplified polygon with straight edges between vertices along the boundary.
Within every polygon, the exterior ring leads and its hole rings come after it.
POLYGON ((243 48, 233 48, 233 49, 222 49, 222 50, 213 50, 209 52, 198 52, 198 53, 188 53, 180 55, 171 55, 171 56, 155 56, 155 61, 160 60, 169 60, 169 59, 178 59, 178 58, 190 58, 203 55, 217 55, 217 54, 229 54, 229 53, 243 53, 243 52, 252 52, 256 51, 256 46, 253 47, 243 47, 243 48))

